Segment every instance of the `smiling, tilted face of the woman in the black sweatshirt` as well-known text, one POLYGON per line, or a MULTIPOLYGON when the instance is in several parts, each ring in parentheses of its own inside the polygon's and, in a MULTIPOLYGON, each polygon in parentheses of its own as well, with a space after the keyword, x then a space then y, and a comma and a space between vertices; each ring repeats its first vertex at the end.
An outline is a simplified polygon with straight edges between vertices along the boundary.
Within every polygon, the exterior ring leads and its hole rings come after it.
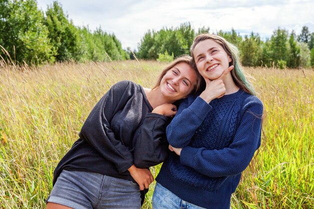
POLYGON ((196 83, 196 72, 189 64, 181 62, 165 74, 161 80, 160 88, 166 98, 177 101, 187 97, 196 83))

